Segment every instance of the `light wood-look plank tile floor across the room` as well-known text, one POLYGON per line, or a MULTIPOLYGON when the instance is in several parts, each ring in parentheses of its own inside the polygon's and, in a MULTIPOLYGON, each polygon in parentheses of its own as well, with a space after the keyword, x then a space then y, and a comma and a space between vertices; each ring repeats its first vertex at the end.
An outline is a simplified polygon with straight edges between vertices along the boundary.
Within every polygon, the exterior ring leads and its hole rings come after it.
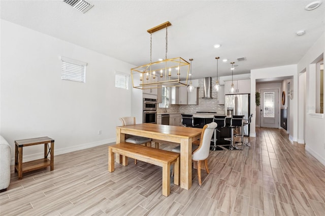
POLYGON ((12 171, 0 215, 325 215, 325 167, 304 145, 266 128, 256 128, 250 143, 210 152, 202 186, 193 170, 191 189, 171 184, 168 197, 161 195, 161 167, 129 159, 108 172, 108 145, 58 155, 53 171, 19 181, 12 171))

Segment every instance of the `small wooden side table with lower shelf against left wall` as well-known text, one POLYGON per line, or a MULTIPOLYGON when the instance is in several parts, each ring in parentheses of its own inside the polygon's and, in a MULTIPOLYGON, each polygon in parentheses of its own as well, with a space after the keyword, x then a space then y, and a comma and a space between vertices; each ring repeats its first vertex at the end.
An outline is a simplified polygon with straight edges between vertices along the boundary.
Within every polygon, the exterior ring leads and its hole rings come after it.
POLYGON ((18 172, 18 179, 22 179, 22 173, 29 172, 36 169, 45 168, 51 166, 51 171, 54 170, 54 139, 44 136, 31 139, 15 140, 15 172, 18 172), (48 148, 51 142, 51 147, 48 148), (22 149, 26 146, 34 146, 44 144, 44 158, 22 162, 22 149), (51 155, 51 160, 47 158, 51 155))

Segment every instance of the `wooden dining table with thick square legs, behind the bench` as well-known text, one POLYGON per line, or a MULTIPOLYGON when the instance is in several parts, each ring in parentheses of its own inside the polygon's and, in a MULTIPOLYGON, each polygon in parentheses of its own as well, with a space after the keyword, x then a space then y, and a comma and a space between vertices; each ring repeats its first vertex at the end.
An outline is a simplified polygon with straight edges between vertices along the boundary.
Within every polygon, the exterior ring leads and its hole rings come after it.
POLYGON ((161 143, 180 143, 180 187, 188 190, 192 186, 192 141, 199 139, 201 133, 201 128, 149 123, 117 126, 116 143, 123 142, 125 134, 144 136, 161 143))

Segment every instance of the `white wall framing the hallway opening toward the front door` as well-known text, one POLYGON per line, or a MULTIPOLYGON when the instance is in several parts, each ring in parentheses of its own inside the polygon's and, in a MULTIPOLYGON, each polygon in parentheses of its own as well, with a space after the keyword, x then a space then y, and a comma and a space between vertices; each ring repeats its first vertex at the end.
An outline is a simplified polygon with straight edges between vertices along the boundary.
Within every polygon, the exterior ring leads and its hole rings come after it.
MULTIPOLYGON (((278 67, 268 67, 262 69, 253 69, 250 71, 250 92, 256 92, 256 79, 268 79, 268 78, 278 78, 278 77, 288 77, 293 76, 293 84, 292 88, 294 92, 298 92, 298 75, 297 75, 297 65, 285 65, 278 67)), ((298 134, 298 99, 294 97, 293 100, 290 101, 290 131, 289 138, 292 141, 297 141, 298 134), (291 110, 292 108, 292 110, 291 110)), ((250 135, 255 136, 255 117, 256 117, 256 109, 255 109, 255 97, 251 97, 250 100, 251 113, 253 114, 253 119, 251 122, 251 131, 250 135)))

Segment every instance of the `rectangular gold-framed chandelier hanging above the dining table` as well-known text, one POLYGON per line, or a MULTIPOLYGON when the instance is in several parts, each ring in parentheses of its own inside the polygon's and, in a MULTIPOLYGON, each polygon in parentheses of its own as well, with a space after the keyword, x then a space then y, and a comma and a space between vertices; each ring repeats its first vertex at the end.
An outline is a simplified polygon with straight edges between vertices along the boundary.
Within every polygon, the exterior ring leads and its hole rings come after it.
POLYGON ((134 88, 153 89, 163 86, 187 85, 190 63, 181 57, 167 58, 167 27, 170 25, 172 25, 170 22, 165 22, 147 30, 150 33, 150 63, 131 68, 132 85, 134 88), (151 62, 151 34, 164 28, 166 28, 166 59, 151 62))

